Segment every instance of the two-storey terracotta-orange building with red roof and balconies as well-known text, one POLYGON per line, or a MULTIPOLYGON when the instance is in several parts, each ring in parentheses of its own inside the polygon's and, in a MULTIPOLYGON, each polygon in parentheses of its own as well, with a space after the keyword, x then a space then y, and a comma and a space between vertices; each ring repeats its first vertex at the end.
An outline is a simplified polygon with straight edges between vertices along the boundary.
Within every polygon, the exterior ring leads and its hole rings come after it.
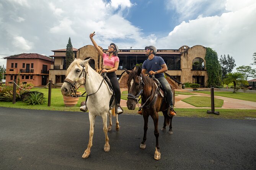
POLYGON ((20 83, 32 83, 34 86, 46 85, 49 82, 49 68, 52 58, 36 53, 23 53, 5 57, 6 82, 5 85, 13 83, 16 79, 20 83))

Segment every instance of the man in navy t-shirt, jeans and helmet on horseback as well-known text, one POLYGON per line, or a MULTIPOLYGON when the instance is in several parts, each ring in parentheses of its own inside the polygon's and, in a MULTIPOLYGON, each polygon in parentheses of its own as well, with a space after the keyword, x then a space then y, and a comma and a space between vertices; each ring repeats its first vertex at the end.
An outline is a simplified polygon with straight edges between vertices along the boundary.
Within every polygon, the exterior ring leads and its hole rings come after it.
POLYGON ((155 56, 155 54, 157 53, 157 48, 153 45, 145 47, 145 50, 148 59, 146 59, 142 64, 142 73, 146 74, 146 71, 148 71, 150 76, 152 74, 155 74, 155 78, 161 83, 162 87, 166 91, 166 100, 169 104, 168 110, 170 110, 168 115, 176 116, 176 113, 173 110, 173 92, 171 91, 171 87, 163 74, 168 70, 165 61, 160 56, 155 56))

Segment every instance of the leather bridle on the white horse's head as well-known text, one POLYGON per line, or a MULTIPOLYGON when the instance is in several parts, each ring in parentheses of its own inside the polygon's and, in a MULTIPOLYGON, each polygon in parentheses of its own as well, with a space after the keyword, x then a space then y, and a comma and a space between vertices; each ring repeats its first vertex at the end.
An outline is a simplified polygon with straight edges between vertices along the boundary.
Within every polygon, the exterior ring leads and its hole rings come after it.
POLYGON ((82 72, 80 73, 80 75, 77 77, 77 79, 75 81, 72 81, 72 80, 67 79, 67 78, 64 80, 64 82, 70 84, 70 88, 73 91, 73 93, 75 94, 75 95, 71 95, 73 97, 77 97, 77 89, 80 87, 80 86, 79 87, 76 86, 77 83, 83 81, 82 85, 84 85, 86 83, 86 77, 87 77, 87 74, 88 74, 88 68, 86 69, 85 66, 81 63, 79 65, 82 66, 83 69, 82 69, 82 72), (82 77, 82 79, 80 79, 80 77, 82 77))

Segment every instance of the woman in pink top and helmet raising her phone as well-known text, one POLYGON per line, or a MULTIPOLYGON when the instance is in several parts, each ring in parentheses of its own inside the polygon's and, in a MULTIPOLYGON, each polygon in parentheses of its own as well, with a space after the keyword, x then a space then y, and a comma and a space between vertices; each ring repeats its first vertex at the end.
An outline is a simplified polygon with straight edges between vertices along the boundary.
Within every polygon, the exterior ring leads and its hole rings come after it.
MULTIPOLYGON (((106 72, 108 78, 110 79, 110 82, 112 83, 114 92, 115 92, 115 98, 117 101, 117 114, 121 114, 123 110, 119 106, 120 101, 121 101, 121 91, 119 87, 119 82, 117 81, 116 73, 118 65, 119 65, 119 58, 117 56, 118 53, 118 47, 114 43, 111 43, 108 47, 108 54, 103 53, 101 49, 98 47, 97 43, 95 40, 93 40, 93 36, 95 34, 90 34, 90 39, 91 42, 93 43, 94 47, 98 51, 99 55, 103 58, 103 69, 101 70, 102 72, 106 72)), ((86 112, 87 111, 87 106, 86 103, 80 107, 81 111, 86 112)))

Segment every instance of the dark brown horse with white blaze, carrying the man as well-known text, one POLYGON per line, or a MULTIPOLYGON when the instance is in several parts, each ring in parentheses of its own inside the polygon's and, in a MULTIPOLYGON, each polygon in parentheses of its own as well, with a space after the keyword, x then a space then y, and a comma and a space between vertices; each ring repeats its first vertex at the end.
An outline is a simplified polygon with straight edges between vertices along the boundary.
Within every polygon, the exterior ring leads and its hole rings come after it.
MULTIPOLYGON (((128 99, 127 99, 127 107, 129 110, 134 110, 136 104, 138 103, 139 96, 141 96, 141 104, 142 107, 142 115, 144 118, 144 136, 143 140, 140 143, 140 148, 146 148, 146 140, 147 140, 147 129, 148 129, 148 117, 151 116, 155 125, 155 138, 156 138, 156 148, 154 159, 159 160, 161 158, 160 148, 158 143, 158 112, 162 111, 165 117, 163 128, 161 130, 166 130, 166 125, 170 125, 169 134, 172 134, 172 126, 171 122, 173 117, 168 116, 168 104, 165 102, 162 90, 159 90, 159 87, 154 82, 153 79, 145 76, 141 73, 141 69, 139 67, 138 70, 134 70, 132 72, 126 71, 129 74, 127 85, 128 85, 128 99), (160 93, 161 91, 161 93, 160 93)), ((171 85, 170 85, 171 86, 171 85)), ((174 88, 171 86, 173 91, 173 105, 175 102, 175 92, 174 88)))

